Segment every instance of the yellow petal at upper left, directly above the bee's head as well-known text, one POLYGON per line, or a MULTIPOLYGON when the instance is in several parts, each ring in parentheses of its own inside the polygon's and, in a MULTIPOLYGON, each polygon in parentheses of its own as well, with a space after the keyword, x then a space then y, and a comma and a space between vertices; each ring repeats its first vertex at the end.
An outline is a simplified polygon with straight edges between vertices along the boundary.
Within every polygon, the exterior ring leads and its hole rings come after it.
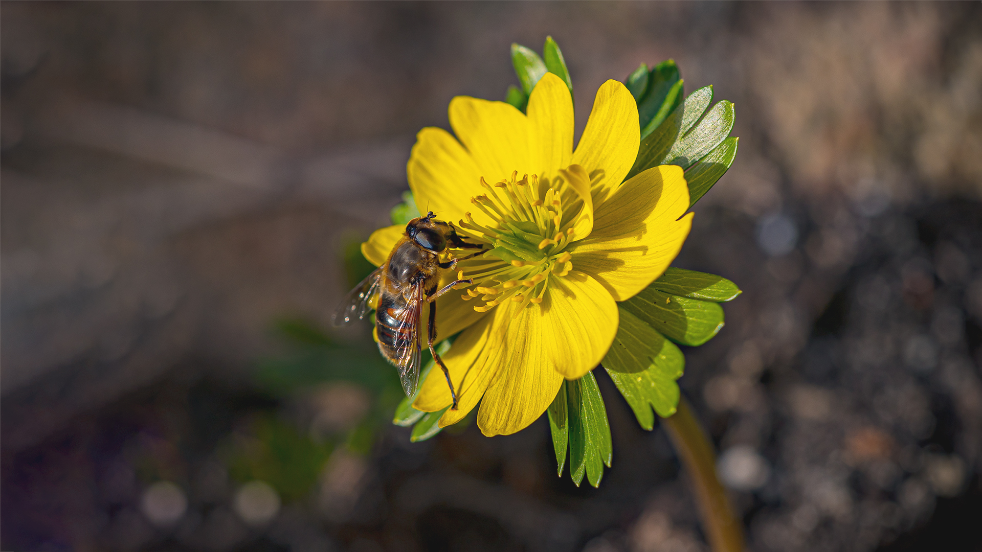
POLYGON ((409 190, 421 212, 457 222, 471 209, 470 197, 483 193, 482 174, 470 154, 443 129, 419 131, 406 166, 409 190))

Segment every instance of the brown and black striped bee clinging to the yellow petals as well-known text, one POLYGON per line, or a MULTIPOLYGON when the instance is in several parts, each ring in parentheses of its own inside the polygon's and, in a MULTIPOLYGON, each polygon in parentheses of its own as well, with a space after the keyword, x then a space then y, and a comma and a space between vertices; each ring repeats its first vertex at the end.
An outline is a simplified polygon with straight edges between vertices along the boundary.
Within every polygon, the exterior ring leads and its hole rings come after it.
MULTIPOLYGON (((451 409, 456 411, 457 393, 450 381, 450 372, 433 348, 436 340, 436 299, 457 284, 473 284, 474 281, 454 280, 442 289, 437 289, 442 271, 452 270, 457 265, 457 258, 440 262, 440 253, 448 246, 455 249, 481 248, 461 240, 454 225, 436 220, 433 211, 426 213, 424 217, 410 220, 406 225, 406 232, 396 242, 396 247, 392 248, 385 263, 355 286, 338 305, 333 322, 339 326, 350 323, 355 318, 364 318, 369 303, 377 295, 375 333, 378 336, 378 350, 385 359, 399 368, 403 390, 411 397, 419 380, 419 317, 423 304, 429 303, 426 344, 447 378, 453 399, 451 409)), ((473 254, 481 252, 483 251, 473 254)))

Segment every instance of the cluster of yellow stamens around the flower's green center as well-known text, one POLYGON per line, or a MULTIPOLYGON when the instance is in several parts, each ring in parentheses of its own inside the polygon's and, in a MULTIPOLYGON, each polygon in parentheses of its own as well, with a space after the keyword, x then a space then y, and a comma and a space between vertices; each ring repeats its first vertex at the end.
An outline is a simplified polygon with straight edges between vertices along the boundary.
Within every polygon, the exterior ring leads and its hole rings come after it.
POLYGON ((514 171, 510 179, 494 185, 480 179, 487 193, 470 201, 491 223, 480 224, 468 212, 459 230, 486 249, 458 264, 460 279, 473 278, 475 283, 466 290, 464 300, 480 298, 484 302, 474 310, 485 312, 512 301, 520 304, 517 315, 527 304, 542 303, 550 278, 564 277, 573 269, 572 255, 565 249, 586 237, 577 235, 576 223, 584 207, 590 209, 592 220, 592 205, 585 205, 570 182, 585 175, 573 170, 560 171, 560 175, 551 182, 540 181, 536 175, 518 180, 518 171, 514 171))

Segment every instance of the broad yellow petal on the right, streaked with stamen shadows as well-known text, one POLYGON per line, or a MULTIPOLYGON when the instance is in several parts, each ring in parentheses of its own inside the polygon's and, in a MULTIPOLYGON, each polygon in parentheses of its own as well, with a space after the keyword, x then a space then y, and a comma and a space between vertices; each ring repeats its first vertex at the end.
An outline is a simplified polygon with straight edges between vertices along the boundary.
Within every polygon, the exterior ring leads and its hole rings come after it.
POLYGON ((594 212, 593 233, 573 244, 573 268, 590 274, 617 301, 662 275, 692 227, 682 168, 662 165, 630 179, 594 212))

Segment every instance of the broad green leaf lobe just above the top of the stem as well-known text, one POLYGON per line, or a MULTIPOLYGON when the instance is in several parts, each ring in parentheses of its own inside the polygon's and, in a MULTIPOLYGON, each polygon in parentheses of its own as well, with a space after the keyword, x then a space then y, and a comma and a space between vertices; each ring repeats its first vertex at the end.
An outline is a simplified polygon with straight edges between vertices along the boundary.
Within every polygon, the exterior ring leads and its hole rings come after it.
POLYGON ((617 336, 604 369, 645 429, 655 425, 655 412, 662 417, 675 414, 679 406, 679 384, 685 357, 675 344, 621 307, 617 336))

